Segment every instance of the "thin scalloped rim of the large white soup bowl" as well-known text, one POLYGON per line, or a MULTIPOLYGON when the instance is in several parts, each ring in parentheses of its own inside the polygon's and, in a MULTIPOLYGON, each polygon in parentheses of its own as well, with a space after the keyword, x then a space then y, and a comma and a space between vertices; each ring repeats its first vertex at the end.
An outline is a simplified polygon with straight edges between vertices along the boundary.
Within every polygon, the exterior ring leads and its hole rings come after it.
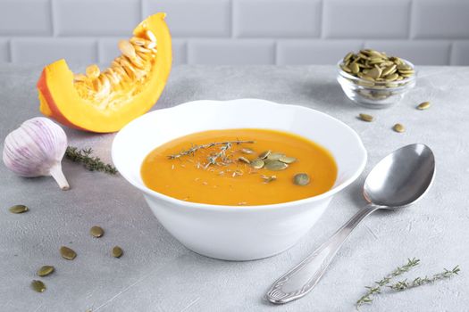
POLYGON ((314 109, 311 109, 306 106, 302 105, 297 105, 297 104, 283 104, 283 103, 274 103, 271 101, 263 100, 263 99, 256 99, 256 98, 241 98, 241 99, 234 99, 234 100, 227 100, 227 101, 218 101, 218 100, 197 100, 197 101, 190 101, 186 103, 180 103, 179 105, 172 106, 169 108, 164 108, 160 110, 155 110, 155 111, 149 111, 146 114, 139 116, 137 119, 133 119, 128 123, 126 126, 122 127, 121 130, 117 133, 117 135, 114 136, 113 138, 113 144, 112 144, 112 150, 111 150, 111 155, 113 159, 113 163, 116 166, 116 168, 119 170, 119 173, 122 177, 124 177, 130 185, 133 185, 134 187, 138 188, 142 193, 150 196, 150 197, 156 197, 158 199, 161 199, 163 201, 167 201, 170 204, 172 204, 172 207, 178 207, 178 208, 190 208, 190 209, 205 209, 205 210, 212 210, 212 211, 257 211, 257 210, 265 210, 265 209, 286 209, 289 207, 294 207, 302 204, 307 204, 307 203, 313 203, 315 201, 322 201, 324 199, 327 199, 334 195, 335 193, 339 193, 339 191, 343 190, 346 188, 348 185, 352 184, 357 177, 359 177, 363 170, 364 166, 366 165, 366 162, 368 160, 368 153, 366 152, 366 149, 364 148, 364 144, 360 138, 360 136, 356 133, 352 127, 349 127, 346 123, 339 119, 333 118, 331 115, 328 115, 322 111, 316 111, 314 109), (116 156, 116 142, 120 140, 121 134, 126 131, 128 127, 135 127, 140 120, 145 118, 148 118, 149 115, 157 115, 160 111, 168 111, 168 110, 183 110, 185 107, 188 107, 190 105, 195 105, 195 104, 205 104, 205 105, 221 105, 220 102, 223 103, 230 103, 230 102, 238 102, 238 101, 257 101, 257 102, 262 102, 262 103, 268 103, 269 105, 272 106, 282 106, 282 107, 291 107, 292 109, 295 110, 300 110, 300 111, 314 111, 317 114, 322 115, 322 117, 326 119, 330 119, 336 123, 339 123, 342 127, 345 127, 351 135, 353 135, 356 139, 356 143, 358 144, 358 148, 363 152, 362 154, 362 160, 360 161, 359 166, 356 168, 356 170, 342 183, 340 183, 337 186, 334 186, 331 188, 331 190, 321 193, 312 197, 307 197, 305 199, 297 200, 297 201, 286 201, 286 202, 280 202, 280 203, 274 203, 274 204, 265 204, 265 205, 239 205, 239 206, 231 206, 231 205, 215 205, 215 204, 208 204, 208 203, 202 203, 202 202, 192 202, 192 201, 182 201, 176 198, 173 198, 171 196, 165 195, 163 193, 158 193, 150 188, 148 188, 146 185, 143 183, 137 183, 134 181, 133 178, 128 177, 128 175, 123 174, 119 170, 119 164, 118 161, 115 161, 117 159, 116 156))

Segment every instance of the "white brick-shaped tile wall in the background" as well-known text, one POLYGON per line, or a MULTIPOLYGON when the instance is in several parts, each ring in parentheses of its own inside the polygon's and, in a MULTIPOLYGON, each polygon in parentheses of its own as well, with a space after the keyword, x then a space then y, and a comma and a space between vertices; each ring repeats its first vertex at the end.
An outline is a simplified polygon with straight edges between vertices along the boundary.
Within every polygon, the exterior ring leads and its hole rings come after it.
POLYGON ((469 65, 469 0, 0 0, 0 62, 110 62, 154 12, 174 64, 333 64, 366 46, 469 65))

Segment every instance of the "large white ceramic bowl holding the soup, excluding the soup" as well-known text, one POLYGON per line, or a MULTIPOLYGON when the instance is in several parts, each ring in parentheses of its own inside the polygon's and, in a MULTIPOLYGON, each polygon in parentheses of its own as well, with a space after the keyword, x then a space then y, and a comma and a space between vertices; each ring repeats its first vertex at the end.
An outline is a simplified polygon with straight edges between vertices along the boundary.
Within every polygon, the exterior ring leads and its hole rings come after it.
POLYGON ((262 259, 293 246, 321 217, 332 196, 358 177, 366 151, 356 132, 319 111, 264 100, 197 101, 152 111, 115 136, 113 162, 144 195, 156 218, 199 254, 226 260, 262 259), (143 184, 148 152, 181 135, 224 128, 270 128, 303 135, 327 148, 338 165, 329 192, 300 201, 263 206, 219 206, 180 201, 143 184))

